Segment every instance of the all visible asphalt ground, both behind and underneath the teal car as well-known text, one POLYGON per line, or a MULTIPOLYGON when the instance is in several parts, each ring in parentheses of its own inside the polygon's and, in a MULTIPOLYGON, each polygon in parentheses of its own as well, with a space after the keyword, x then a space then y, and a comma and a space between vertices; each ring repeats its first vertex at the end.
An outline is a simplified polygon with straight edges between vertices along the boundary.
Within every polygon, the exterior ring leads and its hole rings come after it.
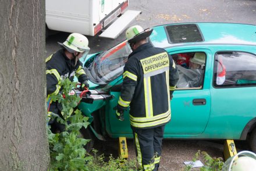
MULTIPOLYGON (((130 0, 129 9, 141 10, 141 15, 130 24, 144 29, 168 23, 225 22, 256 24, 255 0, 130 0)), ((59 49, 57 42, 66 40, 70 33, 50 35, 46 40, 45 58, 59 49)), ((90 54, 104 51, 125 40, 122 33, 116 40, 88 37, 90 54)), ((222 140, 163 140, 163 152, 159 170, 183 170, 184 161, 191 161, 195 153, 205 151, 212 157, 223 157, 222 140)), ((238 151, 247 150, 246 142, 235 141, 238 151)), ((129 158, 135 158, 133 141, 127 140, 129 158)), ((117 154, 117 141, 97 141, 95 147, 102 153, 117 154), (103 145, 104 144, 104 145, 103 145)))

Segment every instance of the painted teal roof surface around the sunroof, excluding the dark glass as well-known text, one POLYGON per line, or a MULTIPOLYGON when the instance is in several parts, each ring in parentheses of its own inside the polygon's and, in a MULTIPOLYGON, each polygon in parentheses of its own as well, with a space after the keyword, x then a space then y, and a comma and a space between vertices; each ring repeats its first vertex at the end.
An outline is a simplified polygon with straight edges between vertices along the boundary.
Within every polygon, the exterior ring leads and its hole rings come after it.
POLYGON ((235 23, 197 23, 197 25, 203 35, 203 42, 186 42, 172 44, 169 42, 168 37, 166 36, 166 29, 163 26, 154 27, 154 31, 150 36, 150 41, 155 47, 160 48, 200 44, 256 45, 256 34, 254 25, 235 23))

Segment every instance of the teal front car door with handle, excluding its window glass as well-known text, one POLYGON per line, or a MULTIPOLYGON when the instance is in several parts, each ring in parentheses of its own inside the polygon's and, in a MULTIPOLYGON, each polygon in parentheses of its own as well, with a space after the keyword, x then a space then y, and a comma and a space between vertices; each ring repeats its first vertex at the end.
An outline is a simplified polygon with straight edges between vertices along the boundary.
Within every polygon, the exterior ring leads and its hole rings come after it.
MULTIPOLYGON (((170 55, 173 54, 172 48, 167 49, 170 55)), ((204 52, 211 56, 211 51, 205 48, 187 50, 185 52, 204 52)), ((184 52, 183 49, 175 51, 175 54, 184 52)), ((205 65, 205 75, 211 76, 211 63, 205 65)), ((209 94, 209 80, 205 77, 202 89, 198 90, 176 90, 171 101, 172 117, 171 122, 165 127, 166 137, 172 135, 197 135, 203 133, 207 126, 211 109, 211 95, 209 94), (194 99, 205 99, 204 105, 193 105, 194 99), (191 122, 193 120, 194 122, 191 122)))

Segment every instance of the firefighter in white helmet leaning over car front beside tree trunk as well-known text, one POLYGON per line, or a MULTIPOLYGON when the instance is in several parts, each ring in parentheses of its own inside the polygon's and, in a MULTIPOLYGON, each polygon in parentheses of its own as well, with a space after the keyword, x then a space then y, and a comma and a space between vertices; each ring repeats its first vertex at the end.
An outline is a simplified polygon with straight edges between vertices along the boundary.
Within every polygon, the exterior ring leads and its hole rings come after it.
MULTIPOLYGON (((77 76, 81 83, 81 90, 85 87, 88 88, 87 76, 84 72, 80 58, 86 58, 86 55, 90 51, 88 47, 88 39, 79 33, 72 33, 67 37, 67 40, 63 43, 58 42, 62 49, 49 56, 46 62, 46 77, 47 77, 47 95, 61 93, 61 86, 59 83, 61 80, 69 78, 73 81, 73 77, 77 76)), ((48 116, 51 113, 61 115, 62 105, 58 102, 52 102, 49 107, 48 116)), ((51 130, 62 131, 63 126, 55 120, 50 120, 51 130)))

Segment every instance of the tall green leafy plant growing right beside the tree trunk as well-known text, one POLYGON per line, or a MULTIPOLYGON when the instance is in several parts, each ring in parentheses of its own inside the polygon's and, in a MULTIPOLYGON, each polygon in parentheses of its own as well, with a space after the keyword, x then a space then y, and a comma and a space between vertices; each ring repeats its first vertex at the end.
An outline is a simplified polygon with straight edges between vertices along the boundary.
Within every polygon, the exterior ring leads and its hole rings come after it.
POLYGON ((69 79, 61 81, 62 94, 51 95, 51 100, 62 104, 62 116, 52 115, 57 121, 65 125, 61 133, 52 133, 48 127, 51 168, 49 170, 88 170, 86 163, 93 157, 88 155, 84 145, 90 140, 81 138, 81 127, 87 128, 88 117, 81 114, 79 109, 74 111, 80 101, 79 95, 69 95, 76 87, 76 83, 69 79))

